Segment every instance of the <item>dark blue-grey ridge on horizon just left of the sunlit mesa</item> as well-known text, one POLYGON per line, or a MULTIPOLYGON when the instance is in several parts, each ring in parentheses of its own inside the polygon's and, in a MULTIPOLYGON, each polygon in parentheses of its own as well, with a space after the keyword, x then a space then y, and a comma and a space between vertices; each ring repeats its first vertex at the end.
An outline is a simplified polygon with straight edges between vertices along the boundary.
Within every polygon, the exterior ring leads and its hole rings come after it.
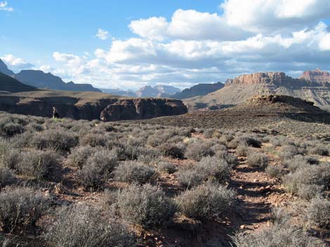
POLYGON ((216 90, 220 90, 223 88, 225 84, 223 83, 201 83, 194 85, 190 88, 186 88, 182 92, 177 92, 176 94, 171 95, 173 99, 188 99, 196 96, 203 96, 209 94, 210 92, 214 92, 216 90))

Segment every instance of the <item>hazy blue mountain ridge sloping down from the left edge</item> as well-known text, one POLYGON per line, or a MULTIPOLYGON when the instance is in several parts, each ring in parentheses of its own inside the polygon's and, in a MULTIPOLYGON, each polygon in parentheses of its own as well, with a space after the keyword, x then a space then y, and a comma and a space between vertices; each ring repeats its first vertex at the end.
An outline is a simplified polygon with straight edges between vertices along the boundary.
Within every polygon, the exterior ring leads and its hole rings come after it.
POLYGON ((72 81, 70 83, 65 83, 60 77, 54 76, 52 73, 44 73, 44 71, 22 70, 20 73, 15 74, 8 69, 8 66, 1 59, 0 72, 33 87, 51 90, 101 92, 101 90, 93 87, 91 84, 76 84, 72 81))

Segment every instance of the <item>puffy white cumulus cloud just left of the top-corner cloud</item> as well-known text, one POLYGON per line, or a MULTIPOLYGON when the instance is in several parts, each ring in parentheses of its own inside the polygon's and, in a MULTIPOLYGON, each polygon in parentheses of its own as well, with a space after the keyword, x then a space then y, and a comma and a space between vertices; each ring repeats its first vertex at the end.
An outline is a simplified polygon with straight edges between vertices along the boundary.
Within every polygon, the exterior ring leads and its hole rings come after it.
POLYGON ((247 31, 230 27, 216 13, 196 10, 176 10, 171 22, 165 17, 133 20, 128 26, 143 38, 162 41, 165 38, 184 40, 237 40, 248 35, 247 31))

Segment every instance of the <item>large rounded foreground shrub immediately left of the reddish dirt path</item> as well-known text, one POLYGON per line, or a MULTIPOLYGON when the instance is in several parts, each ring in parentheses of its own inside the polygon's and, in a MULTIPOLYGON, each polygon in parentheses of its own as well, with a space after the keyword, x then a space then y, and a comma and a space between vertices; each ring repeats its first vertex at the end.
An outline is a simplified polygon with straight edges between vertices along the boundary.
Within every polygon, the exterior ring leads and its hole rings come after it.
POLYGON ((223 185, 206 183, 183 192, 178 197, 180 211, 196 220, 215 220, 225 216, 235 199, 235 192, 223 185))

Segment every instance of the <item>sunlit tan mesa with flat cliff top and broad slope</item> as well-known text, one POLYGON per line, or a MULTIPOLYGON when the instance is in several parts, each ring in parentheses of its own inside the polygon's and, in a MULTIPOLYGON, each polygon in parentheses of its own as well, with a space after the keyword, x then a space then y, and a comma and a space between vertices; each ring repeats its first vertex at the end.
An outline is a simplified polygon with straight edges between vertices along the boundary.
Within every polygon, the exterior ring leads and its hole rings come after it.
POLYGON ((258 94, 289 95, 312 101, 315 106, 330 108, 330 83, 295 79, 282 72, 253 73, 228 79, 222 89, 186 99, 185 104, 190 110, 220 108, 240 104, 258 94))

